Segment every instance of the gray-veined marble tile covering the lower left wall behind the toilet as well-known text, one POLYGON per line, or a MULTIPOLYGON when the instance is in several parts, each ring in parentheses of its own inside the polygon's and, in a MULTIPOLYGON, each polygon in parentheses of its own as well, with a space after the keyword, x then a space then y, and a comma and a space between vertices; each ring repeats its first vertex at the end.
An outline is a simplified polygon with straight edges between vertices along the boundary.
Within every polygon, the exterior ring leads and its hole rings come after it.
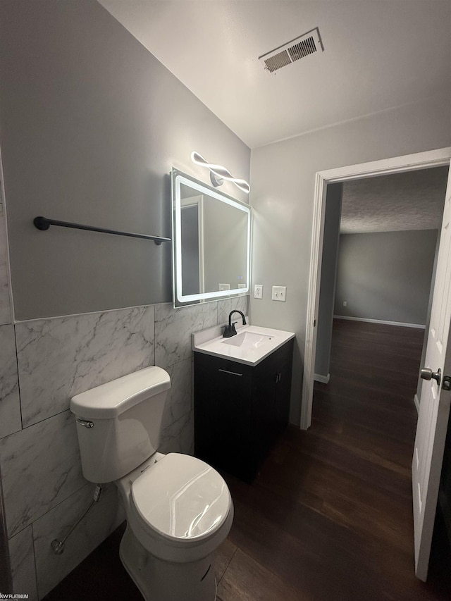
POLYGON ((144 366, 161 366, 172 385, 159 450, 192 453, 191 334, 225 323, 232 309, 246 312, 247 297, 0 326, 0 411, 3 405, 9 424, 0 435, 0 465, 14 593, 42 599, 124 518, 110 487, 70 535, 63 554, 50 549, 94 490, 82 477, 70 397, 144 366))

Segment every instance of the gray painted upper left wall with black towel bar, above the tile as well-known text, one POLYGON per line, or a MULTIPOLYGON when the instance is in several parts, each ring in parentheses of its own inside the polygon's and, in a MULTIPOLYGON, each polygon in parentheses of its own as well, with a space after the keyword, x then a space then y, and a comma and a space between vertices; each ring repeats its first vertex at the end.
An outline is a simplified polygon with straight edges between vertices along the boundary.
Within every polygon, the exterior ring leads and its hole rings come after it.
POLYGON ((2 0, 0 27, 16 318, 169 301, 170 244, 33 218, 170 237, 171 167, 206 180, 197 150, 248 180, 249 149, 94 0, 2 0))

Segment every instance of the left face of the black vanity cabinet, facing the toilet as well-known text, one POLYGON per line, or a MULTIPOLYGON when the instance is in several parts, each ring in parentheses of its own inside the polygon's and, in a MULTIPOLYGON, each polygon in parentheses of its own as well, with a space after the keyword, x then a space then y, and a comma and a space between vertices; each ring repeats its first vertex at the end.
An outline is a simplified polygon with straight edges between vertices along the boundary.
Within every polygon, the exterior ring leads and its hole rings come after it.
POLYGON ((246 477, 252 367, 195 353, 194 390, 196 457, 246 477))

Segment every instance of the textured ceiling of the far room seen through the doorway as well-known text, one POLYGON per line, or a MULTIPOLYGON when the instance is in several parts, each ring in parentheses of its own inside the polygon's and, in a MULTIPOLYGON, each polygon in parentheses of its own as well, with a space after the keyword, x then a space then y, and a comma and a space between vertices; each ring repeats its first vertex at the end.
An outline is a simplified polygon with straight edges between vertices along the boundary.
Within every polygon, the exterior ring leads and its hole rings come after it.
POLYGON ((436 167, 345 182, 340 232, 437 230, 447 174, 447 167, 436 167))

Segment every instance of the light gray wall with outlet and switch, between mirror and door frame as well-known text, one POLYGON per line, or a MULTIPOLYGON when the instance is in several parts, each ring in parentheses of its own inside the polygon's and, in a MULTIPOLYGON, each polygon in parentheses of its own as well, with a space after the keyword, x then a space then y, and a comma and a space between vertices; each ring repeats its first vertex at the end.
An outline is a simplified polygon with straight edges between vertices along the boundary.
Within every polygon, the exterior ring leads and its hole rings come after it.
POLYGON ((252 150, 253 281, 264 297, 251 299, 253 323, 296 333, 292 411, 299 423, 313 223, 315 173, 451 145, 446 98, 352 120, 252 150), (285 303, 271 285, 286 285, 285 303))

